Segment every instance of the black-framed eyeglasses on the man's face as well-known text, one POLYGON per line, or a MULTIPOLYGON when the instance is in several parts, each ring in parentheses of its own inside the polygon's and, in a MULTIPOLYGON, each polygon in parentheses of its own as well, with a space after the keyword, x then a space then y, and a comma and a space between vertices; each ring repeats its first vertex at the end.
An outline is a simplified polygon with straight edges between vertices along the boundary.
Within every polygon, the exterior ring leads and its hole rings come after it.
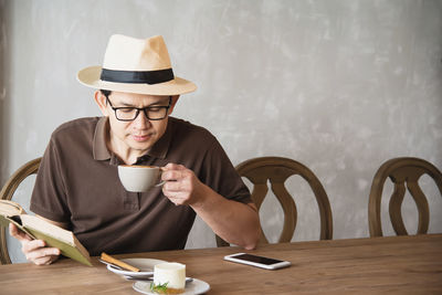
POLYGON ((139 112, 144 112, 146 118, 150 120, 159 120, 167 117, 167 113, 170 108, 172 97, 169 96, 169 104, 167 106, 147 106, 147 107, 114 107, 106 96, 106 101, 109 103, 112 109, 115 112, 115 117, 117 120, 130 122, 138 117, 139 112))

